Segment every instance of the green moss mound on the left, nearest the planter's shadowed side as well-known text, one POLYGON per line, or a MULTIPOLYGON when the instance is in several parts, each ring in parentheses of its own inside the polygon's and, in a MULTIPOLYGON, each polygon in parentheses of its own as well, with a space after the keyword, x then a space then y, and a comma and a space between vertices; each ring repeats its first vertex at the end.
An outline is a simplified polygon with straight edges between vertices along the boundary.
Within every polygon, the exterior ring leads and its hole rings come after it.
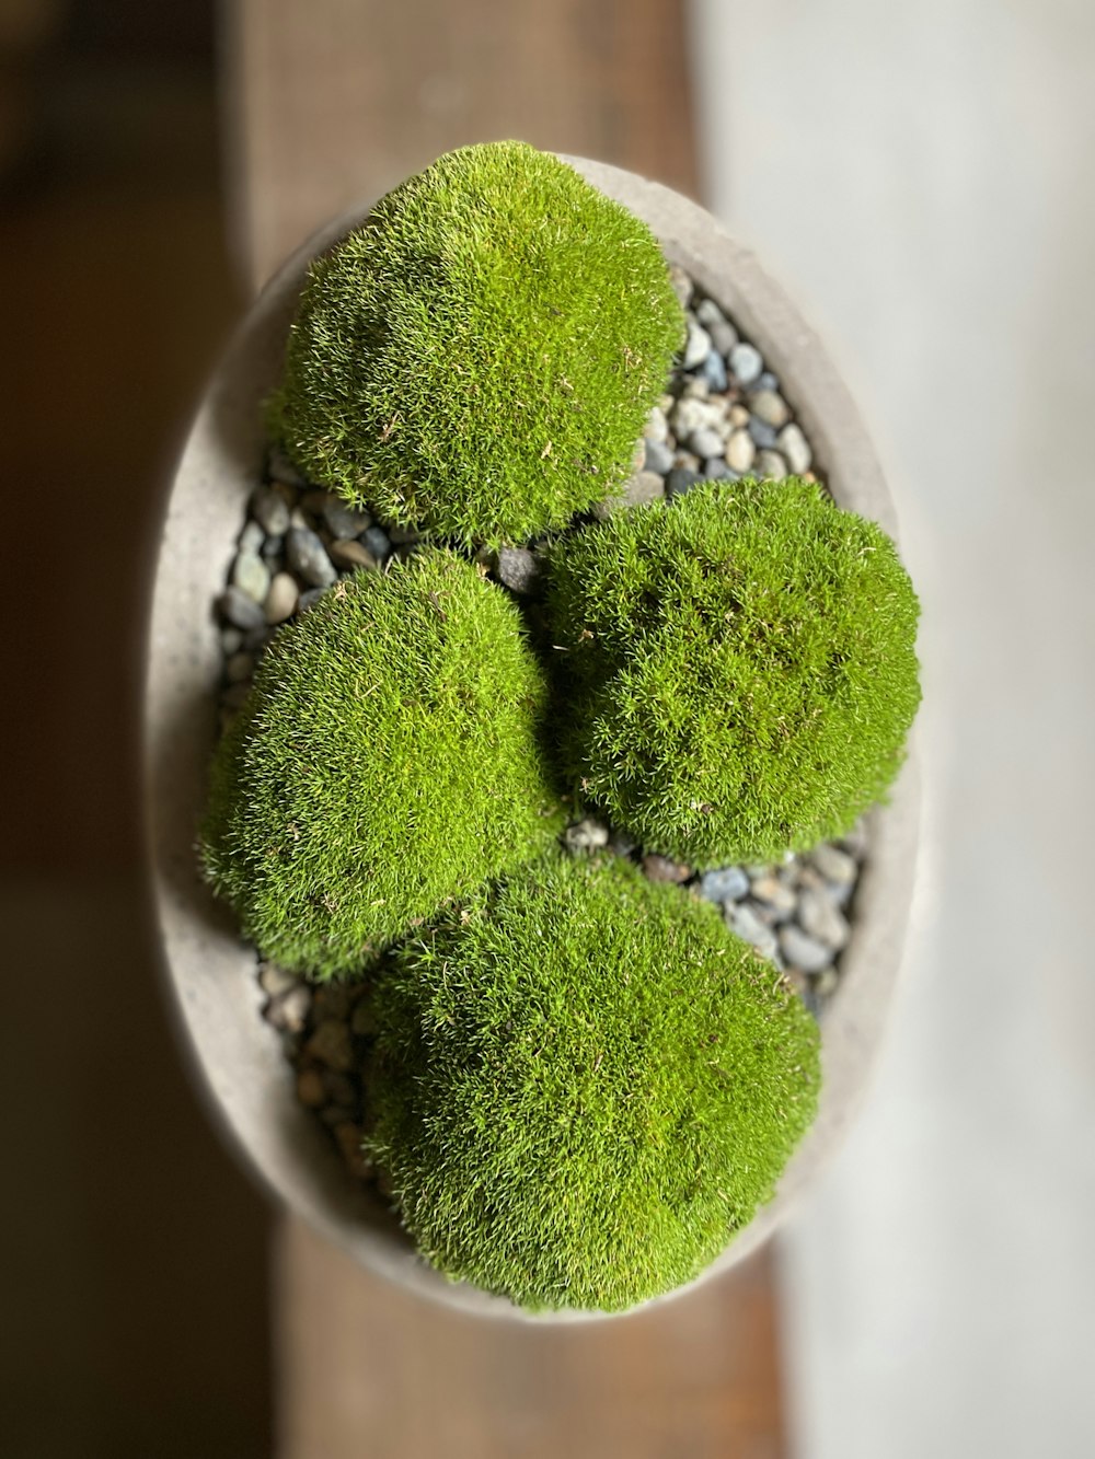
POLYGON ((264 957, 359 970, 540 855, 545 678, 507 594, 432 550, 282 629, 213 762, 203 859, 264 957))

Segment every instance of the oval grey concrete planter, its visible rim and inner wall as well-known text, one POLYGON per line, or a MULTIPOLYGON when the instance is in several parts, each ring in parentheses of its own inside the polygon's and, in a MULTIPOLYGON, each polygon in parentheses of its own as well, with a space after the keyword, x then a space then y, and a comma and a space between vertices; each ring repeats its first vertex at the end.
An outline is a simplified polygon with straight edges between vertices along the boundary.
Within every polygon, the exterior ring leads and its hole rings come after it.
MULTIPOLYGON (((666 255, 755 340, 794 403, 841 506, 894 534, 894 506, 854 406, 812 330, 752 254, 688 198, 603 163, 580 172, 653 228, 666 255)), ((220 651, 210 604, 222 589, 308 260, 355 226, 355 209, 317 233, 251 306, 203 397, 166 508, 147 636, 145 775, 152 889, 172 1001, 212 1115, 251 1169, 296 1215, 364 1265, 467 1312, 517 1316, 508 1301, 454 1285, 415 1255, 397 1220, 355 1189, 318 1122, 296 1100, 274 1030, 261 1017, 254 950, 197 874, 196 826, 215 740, 220 651)), ((853 940, 822 1024, 821 1110, 777 1196, 698 1281, 742 1261, 818 1174, 863 1091, 905 938, 917 851, 917 789, 907 765, 891 804, 872 813, 853 940)), ((695 1285, 695 1284, 694 1284, 695 1285)), ((689 1288, 682 1288, 689 1290, 689 1288)), ((673 1294, 676 1296, 676 1294, 673 1294)), ((664 1300, 664 1299, 663 1299, 664 1300)), ((524 1316, 524 1313, 520 1313, 524 1316)), ((572 1320, 581 1315, 548 1315, 572 1320)), ((540 1319, 545 1320, 545 1319, 540 1319)))

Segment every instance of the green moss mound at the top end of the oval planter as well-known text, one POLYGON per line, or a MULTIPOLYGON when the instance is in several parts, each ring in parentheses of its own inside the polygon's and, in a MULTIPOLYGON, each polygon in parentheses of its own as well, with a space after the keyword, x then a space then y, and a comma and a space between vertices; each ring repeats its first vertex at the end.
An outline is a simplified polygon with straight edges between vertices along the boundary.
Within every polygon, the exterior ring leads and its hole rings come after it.
POLYGON ((311 266, 272 430, 387 521, 524 540, 623 479, 682 337, 645 223, 550 153, 463 147, 311 266))

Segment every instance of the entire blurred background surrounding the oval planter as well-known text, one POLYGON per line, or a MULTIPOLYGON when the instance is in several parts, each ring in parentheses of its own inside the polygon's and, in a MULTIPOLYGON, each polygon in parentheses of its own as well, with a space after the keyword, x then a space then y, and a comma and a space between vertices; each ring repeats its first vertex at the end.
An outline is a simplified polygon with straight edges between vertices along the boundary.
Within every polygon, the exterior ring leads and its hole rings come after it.
POLYGON ((0 1453, 1095 1453, 1095 9, 0 0, 0 1453), (520 136, 705 201, 821 328, 924 598, 929 827, 872 1099, 775 1249, 479 1326, 267 1210, 191 1094, 136 798, 164 484, 326 216, 520 136))

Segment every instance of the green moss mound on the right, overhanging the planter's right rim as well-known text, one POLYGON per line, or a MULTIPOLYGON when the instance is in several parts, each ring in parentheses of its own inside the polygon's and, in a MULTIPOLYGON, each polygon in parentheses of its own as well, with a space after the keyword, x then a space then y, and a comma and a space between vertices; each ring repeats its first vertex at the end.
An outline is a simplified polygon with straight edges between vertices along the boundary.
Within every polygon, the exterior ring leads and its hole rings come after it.
POLYGON ((695 487, 561 538, 568 775, 650 849, 715 865, 847 832, 920 702, 891 540, 812 483, 695 487))

